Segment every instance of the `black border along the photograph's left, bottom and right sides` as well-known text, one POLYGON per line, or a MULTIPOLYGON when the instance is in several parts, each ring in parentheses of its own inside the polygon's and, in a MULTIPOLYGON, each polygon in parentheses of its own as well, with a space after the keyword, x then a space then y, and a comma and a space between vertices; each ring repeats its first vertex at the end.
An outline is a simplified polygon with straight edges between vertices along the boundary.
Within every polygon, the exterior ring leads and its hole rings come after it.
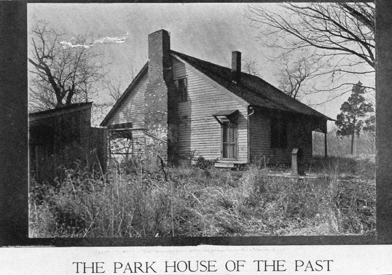
POLYGON ((392 6, 388 0, 376 0, 376 237, 28 238, 27 1, 0 1, 0 246, 392 244, 392 91, 389 86, 392 76, 391 13, 392 6))

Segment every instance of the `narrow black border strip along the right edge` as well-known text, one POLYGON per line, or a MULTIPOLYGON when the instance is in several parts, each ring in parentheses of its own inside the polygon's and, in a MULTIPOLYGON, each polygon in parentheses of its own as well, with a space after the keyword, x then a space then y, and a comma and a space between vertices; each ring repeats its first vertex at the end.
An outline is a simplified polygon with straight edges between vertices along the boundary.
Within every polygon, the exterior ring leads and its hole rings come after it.
POLYGON ((392 244, 392 3, 376 1, 376 232, 392 244))

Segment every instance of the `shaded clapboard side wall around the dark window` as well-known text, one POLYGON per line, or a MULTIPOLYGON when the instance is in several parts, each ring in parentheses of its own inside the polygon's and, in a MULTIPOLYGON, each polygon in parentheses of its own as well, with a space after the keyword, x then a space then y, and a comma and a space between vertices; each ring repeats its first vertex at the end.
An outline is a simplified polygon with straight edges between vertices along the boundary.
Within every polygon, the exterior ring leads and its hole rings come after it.
POLYGON ((255 111, 249 117, 249 142, 250 159, 267 163, 291 163, 293 148, 300 147, 303 150, 304 161, 310 161, 312 157, 312 129, 311 125, 291 116, 287 124, 287 148, 271 148, 270 118, 255 111))

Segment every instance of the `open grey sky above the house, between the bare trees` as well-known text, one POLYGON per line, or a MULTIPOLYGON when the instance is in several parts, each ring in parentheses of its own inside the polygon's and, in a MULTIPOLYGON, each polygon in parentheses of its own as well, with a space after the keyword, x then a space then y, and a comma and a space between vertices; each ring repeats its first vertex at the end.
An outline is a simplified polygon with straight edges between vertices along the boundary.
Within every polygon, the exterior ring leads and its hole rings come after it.
MULTIPOLYGON (((262 5, 276 8, 274 4, 262 5)), ((256 39, 258 31, 245 19, 245 9, 244 3, 29 3, 28 29, 34 19, 38 19, 47 21, 54 29, 66 30, 70 35, 93 34, 98 39, 110 38, 106 43, 95 44, 91 50, 104 53, 105 60, 111 63, 107 67, 109 76, 114 82, 121 82, 123 87, 130 83, 130 71, 138 71, 147 62, 147 36, 159 29, 171 33, 172 50, 221 66, 230 67, 231 51, 239 50, 243 58, 256 59, 259 75, 276 86, 279 68, 268 59, 273 52, 256 39)), ((28 40, 31 41, 31 36, 28 40)), ((358 80, 354 78, 350 82, 358 80)), ((105 92, 101 96, 104 97, 105 92)), ((340 105, 348 96, 312 106, 336 118, 340 105)), ((317 104, 331 97, 333 95, 324 93, 307 96, 302 101, 317 104)))

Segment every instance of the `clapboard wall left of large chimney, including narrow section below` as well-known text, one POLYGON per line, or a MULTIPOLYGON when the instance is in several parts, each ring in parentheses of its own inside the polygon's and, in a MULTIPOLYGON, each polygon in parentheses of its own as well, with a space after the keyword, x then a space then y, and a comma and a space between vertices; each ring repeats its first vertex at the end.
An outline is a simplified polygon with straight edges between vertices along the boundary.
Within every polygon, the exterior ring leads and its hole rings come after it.
MULTIPOLYGON (((132 123, 132 128, 144 128, 145 91, 148 78, 144 76, 135 87, 133 94, 123 103, 123 106, 110 120, 109 125, 132 123)), ((145 150, 144 130, 132 131, 132 154, 143 157, 145 150)))

